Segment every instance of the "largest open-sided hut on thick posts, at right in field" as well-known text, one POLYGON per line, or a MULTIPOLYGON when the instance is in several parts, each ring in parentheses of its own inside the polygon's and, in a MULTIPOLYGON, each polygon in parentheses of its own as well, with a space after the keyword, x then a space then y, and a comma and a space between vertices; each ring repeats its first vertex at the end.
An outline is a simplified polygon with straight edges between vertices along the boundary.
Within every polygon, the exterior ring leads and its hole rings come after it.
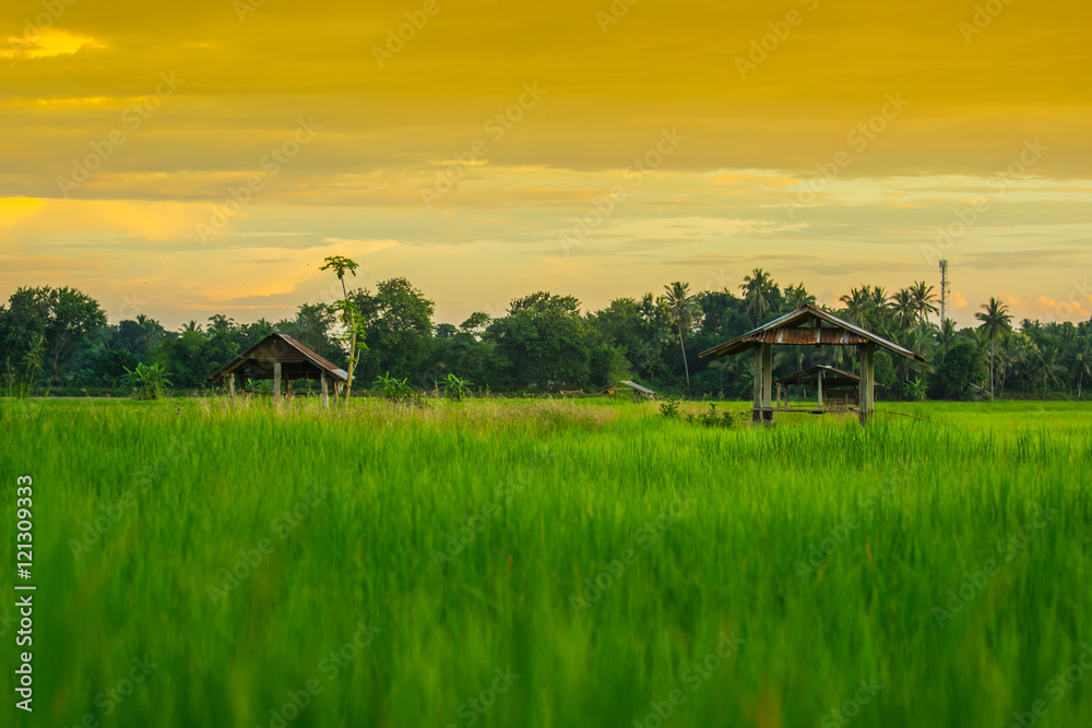
POLYGON ((753 420, 773 420, 773 347, 782 346, 853 346, 860 359, 857 384, 857 411, 860 423, 871 420, 875 407, 876 349, 887 349, 901 357, 925 361, 925 357, 889 342, 860 326, 840 319, 833 313, 815 306, 802 306, 792 313, 774 319, 768 324, 737 336, 700 354, 719 359, 748 349, 755 356, 755 408, 753 420))

